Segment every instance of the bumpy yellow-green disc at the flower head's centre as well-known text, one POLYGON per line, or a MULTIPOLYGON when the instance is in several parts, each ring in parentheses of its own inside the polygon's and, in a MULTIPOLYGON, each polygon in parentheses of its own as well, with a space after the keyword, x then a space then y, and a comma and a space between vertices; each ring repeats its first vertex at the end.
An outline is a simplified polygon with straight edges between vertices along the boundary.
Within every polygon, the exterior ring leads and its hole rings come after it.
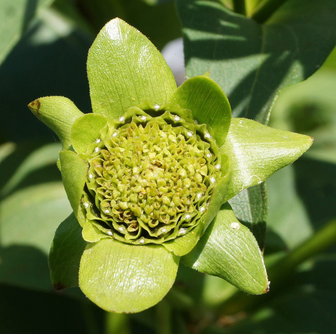
POLYGON ((107 138, 92 159, 101 217, 112 218, 119 232, 137 237, 145 229, 158 237, 182 215, 188 222, 197 214, 212 155, 184 130, 163 122, 144 127, 132 122, 107 138))

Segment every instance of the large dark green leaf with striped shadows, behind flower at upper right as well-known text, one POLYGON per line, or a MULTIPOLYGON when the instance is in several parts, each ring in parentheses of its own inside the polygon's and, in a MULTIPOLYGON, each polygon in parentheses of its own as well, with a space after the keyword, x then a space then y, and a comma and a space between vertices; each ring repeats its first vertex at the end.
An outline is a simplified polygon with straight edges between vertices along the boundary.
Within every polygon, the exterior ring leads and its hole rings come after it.
POLYGON ((187 78, 210 71, 234 117, 267 123, 280 91, 313 74, 336 43, 336 3, 287 0, 263 24, 214 1, 177 0, 187 78))

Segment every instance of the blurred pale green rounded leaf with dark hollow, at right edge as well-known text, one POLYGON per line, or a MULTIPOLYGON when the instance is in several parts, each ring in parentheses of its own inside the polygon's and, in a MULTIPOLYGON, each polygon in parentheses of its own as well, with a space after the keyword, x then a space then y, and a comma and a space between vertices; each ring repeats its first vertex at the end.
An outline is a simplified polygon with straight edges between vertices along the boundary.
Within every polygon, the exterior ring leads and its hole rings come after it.
POLYGON ((335 71, 321 68, 279 96, 270 121, 278 129, 312 136, 314 145, 305 156, 332 163, 336 163, 335 89, 335 71))

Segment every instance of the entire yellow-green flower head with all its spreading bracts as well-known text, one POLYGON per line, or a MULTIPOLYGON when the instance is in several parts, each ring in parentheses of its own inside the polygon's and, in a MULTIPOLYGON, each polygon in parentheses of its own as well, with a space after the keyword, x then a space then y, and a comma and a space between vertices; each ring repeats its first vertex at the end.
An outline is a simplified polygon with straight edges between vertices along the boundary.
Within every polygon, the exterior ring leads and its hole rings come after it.
POLYGON ((181 259, 245 292, 267 292, 258 244, 226 201, 312 139, 231 119, 208 77, 176 88, 158 50, 118 18, 98 34, 87 69, 93 113, 59 96, 29 104, 62 142, 74 211, 50 249, 55 288, 79 282, 103 309, 139 312, 169 291, 181 259))

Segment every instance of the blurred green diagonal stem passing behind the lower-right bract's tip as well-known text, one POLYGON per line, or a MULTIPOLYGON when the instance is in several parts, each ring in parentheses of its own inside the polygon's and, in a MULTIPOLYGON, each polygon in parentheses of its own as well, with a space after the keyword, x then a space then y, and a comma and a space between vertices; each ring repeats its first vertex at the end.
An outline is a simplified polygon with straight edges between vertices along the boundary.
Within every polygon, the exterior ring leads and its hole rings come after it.
MULTIPOLYGON (((272 293, 282 286, 288 276, 303 261, 327 249, 336 242, 336 219, 333 219, 322 227, 317 233, 311 236, 303 244, 293 249, 275 264, 267 268, 272 293)), ((226 300, 220 307, 220 314, 235 314, 241 311, 252 309, 256 304, 264 302, 268 295, 248 295, 244 292, 237 292, 226 300)))

